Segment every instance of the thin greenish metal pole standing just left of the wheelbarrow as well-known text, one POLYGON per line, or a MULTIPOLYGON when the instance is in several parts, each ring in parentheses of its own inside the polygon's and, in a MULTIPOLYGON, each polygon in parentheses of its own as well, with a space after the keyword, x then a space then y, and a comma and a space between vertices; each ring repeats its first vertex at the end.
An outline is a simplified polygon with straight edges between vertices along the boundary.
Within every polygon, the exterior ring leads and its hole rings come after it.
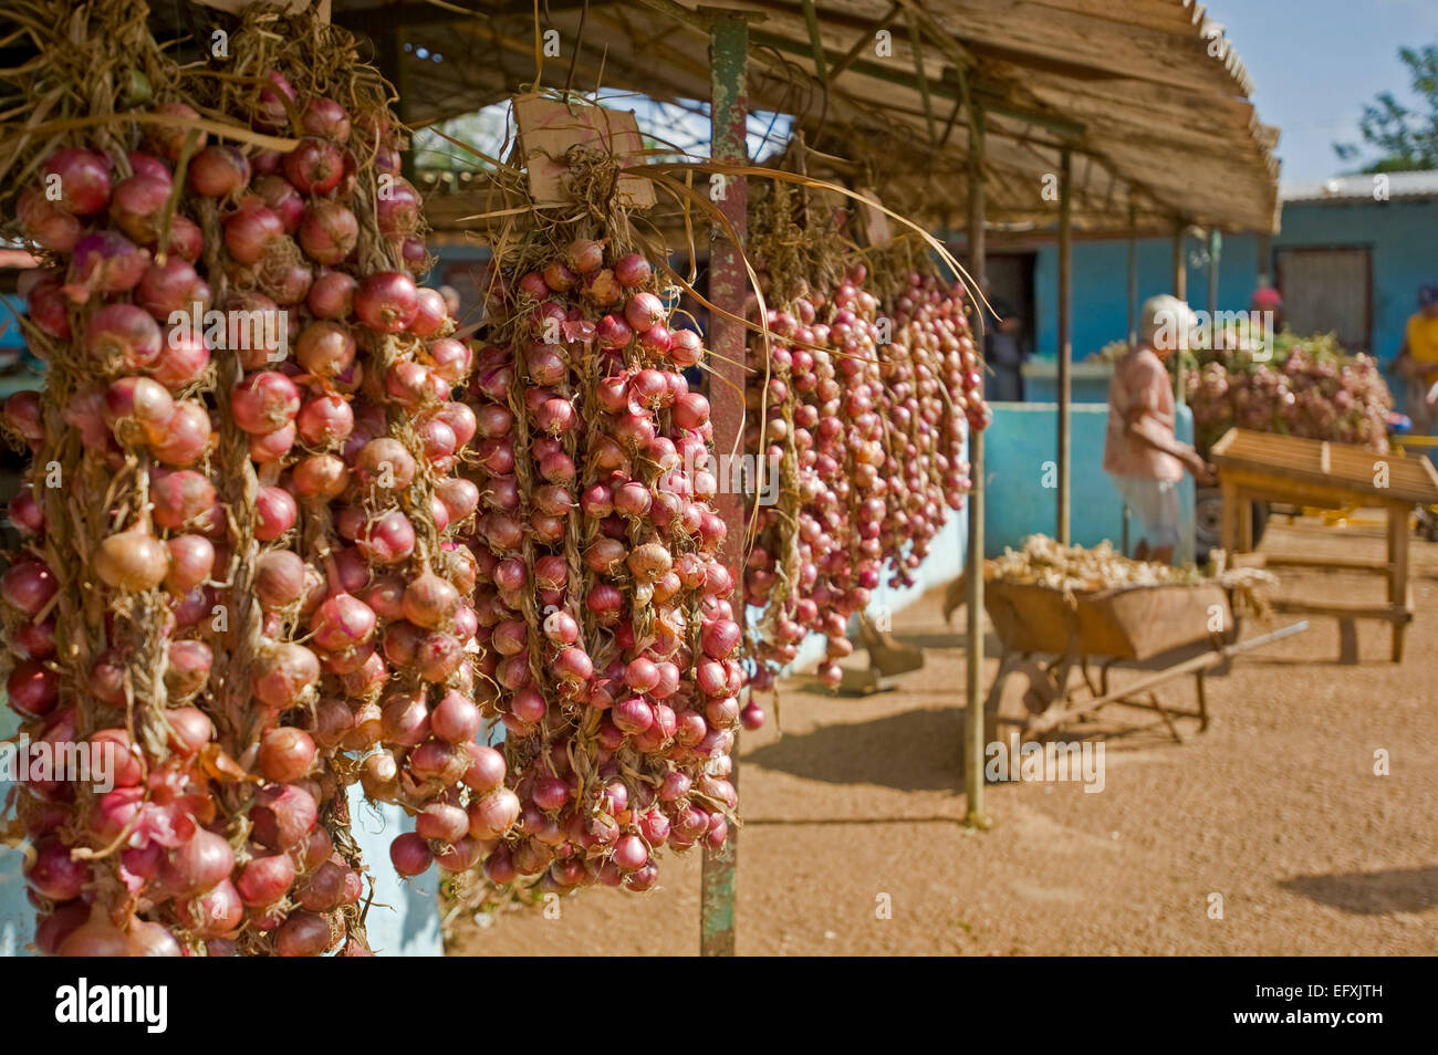
MULTIPOLYGON (((979 289, 986 273, 984 237, 984 111, 969 109, 969 273, 979 289)), ((984 310, 975 300, 974 315, 984 310)), ((984 319, 984 326, 992 325, 984 319)), ((981 348, 982 351, 982 348, 981 348)), ((969 540, 963 555, 965 594, 965 696, 963 707, 963 793, 968 801, 968 824, 988 828, 992 822, 984 812, 984 430, 969 430, 969 540)))

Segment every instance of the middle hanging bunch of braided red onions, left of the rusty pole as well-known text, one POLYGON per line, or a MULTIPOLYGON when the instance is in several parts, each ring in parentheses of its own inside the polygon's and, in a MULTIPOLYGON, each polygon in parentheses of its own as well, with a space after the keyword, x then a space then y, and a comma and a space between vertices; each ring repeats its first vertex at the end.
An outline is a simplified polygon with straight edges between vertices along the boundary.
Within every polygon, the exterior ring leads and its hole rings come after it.
POLYGON ((492 887, 643 891, 663 847, 735 822, 741 630, 709 402, 679 372, 699 336, 610 204, 613 162, 571 162, 590 207, 496 239, 470 388, 476 693, 508 736, 463 778, 467 838, 492 887))

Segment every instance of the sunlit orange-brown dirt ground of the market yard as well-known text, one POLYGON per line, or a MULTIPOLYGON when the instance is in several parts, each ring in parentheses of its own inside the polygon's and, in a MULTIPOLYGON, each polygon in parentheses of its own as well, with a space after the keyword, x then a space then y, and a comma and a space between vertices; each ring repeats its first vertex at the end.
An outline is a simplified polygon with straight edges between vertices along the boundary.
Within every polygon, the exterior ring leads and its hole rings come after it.
MULTIPOLYGON (((1379 556, 1376 515, 1359 520, 1276 523, 1263 549, 1379 556)), ((986 832, 963 825, 963 641, 930 594, 896 617, 928 651, 899 691, 840 699, 798 677, 781 722, 742 737, 738 953, 1438 953, 1438 545, 1415 539, 1412 559, 1402 665, 1386 625, 1360 624, 1362 663, 1339 665, 1336 622, 1311 619, 1209 680, 1205 734, 1109 737, 1100 793, 991 785, 986 832)), ((1283 575, 1301 596, 1382 589, 1283 575)), ((1191 706, 1191 684, 1163 693, 1191 706)), ((450 952, 693 954, 699 875, 697 854, 669 857, 654 893, 585 890, 557 920, 459 921, 450 952)))

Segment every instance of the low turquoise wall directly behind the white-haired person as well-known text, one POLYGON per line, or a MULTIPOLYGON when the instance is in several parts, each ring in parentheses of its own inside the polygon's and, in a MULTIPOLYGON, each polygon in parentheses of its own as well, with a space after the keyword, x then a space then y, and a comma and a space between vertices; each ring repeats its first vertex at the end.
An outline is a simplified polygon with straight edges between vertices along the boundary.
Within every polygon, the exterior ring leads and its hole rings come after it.
MULTIPOLYGON (((1109 408, 1103 404, 1074 404, 1070 424, 1068 526, 1074 545, 1093 546, 1104 539, 1114 548, 1123 539, 1123 499, 1103 471, 1103 436, 1109 408)), ((1194 415, 1178 411, 1179 440, 1194 441, 1194 415)), ((1045 487, 1045 463, 1058 447, 1058 408, 1051 402, 997 402, 994 424, 984 434, 985 480, 984 555, 998 556, 1005 548, 1018 549, 1025 535, 1053 535, 1058 494, 1045 487)), ((1179 484, 1182 540, 1179 561, 1194 559, 1194 477, 1179 484)), ((1129 526, 1130 548, 1143 535, 1142 523, 1129 526)))

